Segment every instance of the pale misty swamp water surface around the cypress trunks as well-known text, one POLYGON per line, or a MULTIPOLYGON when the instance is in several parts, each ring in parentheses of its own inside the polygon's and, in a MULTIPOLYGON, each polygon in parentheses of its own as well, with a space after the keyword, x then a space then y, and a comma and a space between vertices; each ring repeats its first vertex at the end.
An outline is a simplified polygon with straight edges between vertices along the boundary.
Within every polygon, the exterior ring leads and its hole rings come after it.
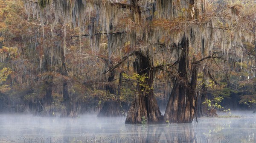
POLYGON ((125 125, 125 118, 43 118, 0 114, 1 143, 256 143, 256 114, 198 123, 125 125))

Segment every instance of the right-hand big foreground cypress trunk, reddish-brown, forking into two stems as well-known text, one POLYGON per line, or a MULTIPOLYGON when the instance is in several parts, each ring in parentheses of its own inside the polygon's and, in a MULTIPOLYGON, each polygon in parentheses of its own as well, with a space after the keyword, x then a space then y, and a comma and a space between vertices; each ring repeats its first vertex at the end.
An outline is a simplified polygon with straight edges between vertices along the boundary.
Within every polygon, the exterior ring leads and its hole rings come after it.
POLYGON ((183 36, 178 45, 181 49, 178 75, 170 95, 164 121, 170 123, 191 123, 195 114, 195 86, 197 81, 197 62, 192 63, 192 80, 189 83, 188 72, 189 40, 183 36))

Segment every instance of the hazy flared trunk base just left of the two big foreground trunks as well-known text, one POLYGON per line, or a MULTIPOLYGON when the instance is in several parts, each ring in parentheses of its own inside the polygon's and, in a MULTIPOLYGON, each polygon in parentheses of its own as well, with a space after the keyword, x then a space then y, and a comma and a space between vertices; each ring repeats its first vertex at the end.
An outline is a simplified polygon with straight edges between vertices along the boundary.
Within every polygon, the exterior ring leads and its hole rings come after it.
POLYGON ((125 112, 119 102, 105 101, 102 109, 99 111, 97 118, 100 117, 125 117, 125 112))

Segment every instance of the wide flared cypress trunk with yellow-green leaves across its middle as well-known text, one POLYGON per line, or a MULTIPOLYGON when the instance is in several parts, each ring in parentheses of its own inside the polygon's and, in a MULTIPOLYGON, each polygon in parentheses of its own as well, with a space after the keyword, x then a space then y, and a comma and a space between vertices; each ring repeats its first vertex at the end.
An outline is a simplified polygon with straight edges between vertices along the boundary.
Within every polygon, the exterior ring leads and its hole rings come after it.
MULTIPOLYGON (((146 86, 152 87, 153 72, 151 71, 151 60, 148 53, 145 56, 139 51, 135 55, 137 56, 137 62, 135 62, 134 67, 137 73, 140 76, 148 76, 145 79, 146 86)), ((135 100, 128 111, 126 124, 140 124, 143 121, 142 118, 145 118, 147 123, 160 123, 163 120, 153 89, 146 89, 147 87, 137 84, 135 100)))

